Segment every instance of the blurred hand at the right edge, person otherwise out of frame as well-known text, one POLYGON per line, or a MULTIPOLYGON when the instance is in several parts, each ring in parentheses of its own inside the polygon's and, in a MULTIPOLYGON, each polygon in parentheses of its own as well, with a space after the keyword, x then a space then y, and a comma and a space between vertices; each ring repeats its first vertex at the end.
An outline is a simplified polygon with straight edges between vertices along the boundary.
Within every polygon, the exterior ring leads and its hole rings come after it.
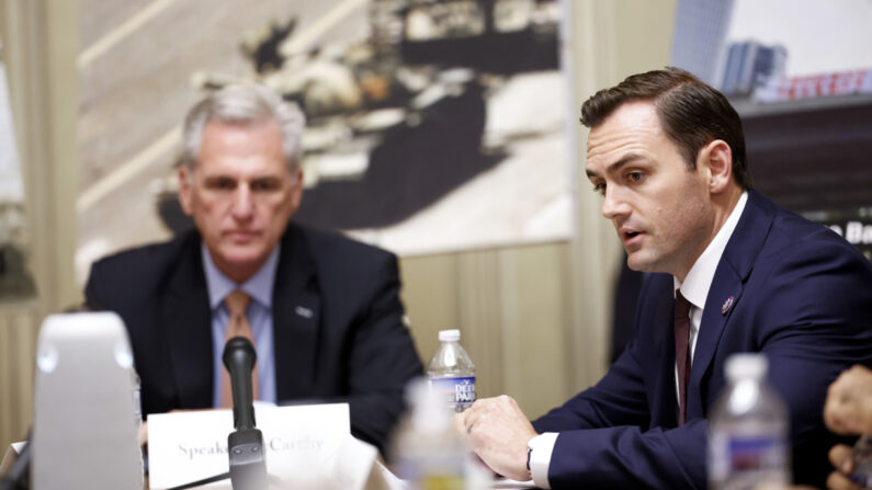
POLYGON ((824 421, 838 434, 872 434, 872 371, 856 365, 829 385, 824 421))

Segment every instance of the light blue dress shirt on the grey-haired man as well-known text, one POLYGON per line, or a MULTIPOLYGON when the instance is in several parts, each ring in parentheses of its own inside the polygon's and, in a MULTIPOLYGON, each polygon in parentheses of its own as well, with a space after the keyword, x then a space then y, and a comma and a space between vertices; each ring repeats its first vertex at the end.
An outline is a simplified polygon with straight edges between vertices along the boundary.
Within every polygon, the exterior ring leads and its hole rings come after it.
POLYGON ((246 317, 251 324, 258 352, 258 383, 260 385, 259 400, 275 403, 275 353, 273 351, 272 335, 272 290, 275 283, 275 267, 279 264, 279 247, 270 253, 269 259, 257 274, 244 284, 237 284, 218 271, 212 254, 205 244, 201 246, 203 255, 203 270, 206 273, 206 288, 208 303, 212 310, 212 358, 215 376, 213 377, 212 406, 222 404, 222 373, 224 363, 225 332, 230 311, 224 304, 224 298, 236 289, 241 289, 251 296, 246 317))

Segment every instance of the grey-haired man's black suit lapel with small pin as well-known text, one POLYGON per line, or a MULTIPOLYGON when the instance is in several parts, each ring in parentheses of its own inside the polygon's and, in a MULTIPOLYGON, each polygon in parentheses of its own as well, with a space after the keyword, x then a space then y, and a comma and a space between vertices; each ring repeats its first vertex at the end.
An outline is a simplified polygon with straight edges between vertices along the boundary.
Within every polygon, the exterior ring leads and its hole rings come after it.
POLYGON ((282 240, 273 290, 276 396, 281 402, 313 394, 321 294, 315 263, 299 228, 282 240))

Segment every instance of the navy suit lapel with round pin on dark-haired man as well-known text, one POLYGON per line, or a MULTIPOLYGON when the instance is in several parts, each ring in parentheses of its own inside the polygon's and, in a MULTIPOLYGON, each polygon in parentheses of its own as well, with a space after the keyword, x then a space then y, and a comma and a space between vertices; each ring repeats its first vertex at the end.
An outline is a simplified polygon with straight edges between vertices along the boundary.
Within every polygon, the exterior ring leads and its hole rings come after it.
POLYGON ((702 379, 711 369, 717 343, 733 311, 740 307, 744 284, 772 226, 773 213, 768 204, 755 191, 748 191, 745 210, 715 270, 712 286, 705 298, 705 309, 702 312, 700 333, 693 353, 688 391, 688 420, 703 415, 702 379))

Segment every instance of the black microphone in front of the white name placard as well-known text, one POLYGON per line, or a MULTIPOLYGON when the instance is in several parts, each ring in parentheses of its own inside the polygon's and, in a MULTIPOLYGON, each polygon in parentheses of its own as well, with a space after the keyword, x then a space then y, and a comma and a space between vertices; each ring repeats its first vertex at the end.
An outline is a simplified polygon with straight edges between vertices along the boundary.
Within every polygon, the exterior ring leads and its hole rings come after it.
POLYGON ((267 460, 263 434, 254 429, 251 372, 258 354, 244 337, 234 337, 224 346, 224 365, 230 373, 234 400, 234 428, 227 436, 230 483, 236 490, 267 489, 267 460))

